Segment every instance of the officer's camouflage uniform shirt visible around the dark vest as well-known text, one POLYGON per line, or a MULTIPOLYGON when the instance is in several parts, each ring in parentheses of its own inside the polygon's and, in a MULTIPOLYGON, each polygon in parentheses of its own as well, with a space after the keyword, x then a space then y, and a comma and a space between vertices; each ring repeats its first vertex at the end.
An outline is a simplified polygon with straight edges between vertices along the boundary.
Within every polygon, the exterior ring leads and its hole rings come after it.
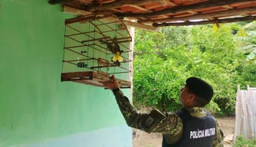
MULTIPOLYGON (((162 134, 168 134, 172 137, 172 144, 179 141, 182 137, 182 119, 176 113, 166 113, 164 114, 166 117, 160 119, 159 123, 154 126, 150 131, 145 129, 144 122, 149 113, 137 113, 136 109, 130 104, 130 101, 126 96, 123 96, 123 92, 121 90, 117 90, 113 92, 116 96, 116 100, 118 106, 120 108, 121 113, 123 114, 124 119, 128 126, 143 130, 145 132, 159 132, 162 134)), ((195 117, 204 117, 206 116, 205 109, 201 107, 194 107, 187 109, 192 116, 195 117)), ((218 123, 216 122, 216 132, 215 132, 215 141, 213 142, 213 146, 222 147, 222 140, 224 138, 223 132, 218 127, 218 123)))

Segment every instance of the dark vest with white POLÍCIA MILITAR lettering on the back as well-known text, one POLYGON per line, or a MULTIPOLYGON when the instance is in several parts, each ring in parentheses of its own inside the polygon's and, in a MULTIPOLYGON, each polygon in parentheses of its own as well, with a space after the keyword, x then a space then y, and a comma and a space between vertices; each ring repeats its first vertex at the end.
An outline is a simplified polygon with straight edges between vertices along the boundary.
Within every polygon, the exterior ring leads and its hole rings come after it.
POLYGON ((182 137, 173 145, 166 143, 163 135, 162 147, 212 147, 215 139, 216 123, 215 119, 207 112, 207 116, 202 118, 193 117, 188 111, 182 109, 176 114, 182 119, 182 137))

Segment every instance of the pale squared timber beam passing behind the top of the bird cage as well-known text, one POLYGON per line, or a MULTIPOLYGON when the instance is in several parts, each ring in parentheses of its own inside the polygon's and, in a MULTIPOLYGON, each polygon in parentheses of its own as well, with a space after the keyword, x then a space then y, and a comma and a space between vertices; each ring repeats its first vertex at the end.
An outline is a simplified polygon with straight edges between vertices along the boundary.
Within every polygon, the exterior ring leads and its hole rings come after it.
MULTIPOLYGON (((62 11, 64 13, 71 14, 71 15, 77 15, 77 16, 92 14, 91 11, 84 11, 84 10, 80 10, 80 9, 77 9, 77 8, 71 8, 71 7, 67 7, 65 5, 63 6, 62 11)), ((74 21, 77 21, 77 19, 79 19, 79 18, 74 18, 74 21)), ((109 21, 111 21, 111 20, 109 20, 109 21)), ((139 23, 136 23, 136 22, 133 22, 133 21, 123 20, 123 24, 126 24, 126 26, 139 28, 139 29, 146 30, 146 31, 157 31, 157 32, 160 31, 160 28, 153 27, 151 25, 146 25, 146 24, 139 24, 139 23)))

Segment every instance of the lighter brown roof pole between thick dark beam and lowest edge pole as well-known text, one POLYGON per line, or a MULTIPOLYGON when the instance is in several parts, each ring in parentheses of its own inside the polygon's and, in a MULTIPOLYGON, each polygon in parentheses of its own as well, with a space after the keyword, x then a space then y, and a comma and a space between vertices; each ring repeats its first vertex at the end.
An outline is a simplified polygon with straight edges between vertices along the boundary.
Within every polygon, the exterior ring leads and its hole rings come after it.
POLYGON ((152 24, 155 22, 162 23, 162 22, 168 22, 168 21, 189 21, 189 20, 195 20, 195 19, 216 18, 216 17, 228 16, 228 15, 241 15, 241 14, 251 13, 252 11, 256 11, 256 7, 231 9, 227 11, 217 11, 212 13, 185 16, 181 18, 164 18, 164 19, 146 20, 146 21, 138 21, 138 22, 145 23, 145 24, 146 23, 152 24))

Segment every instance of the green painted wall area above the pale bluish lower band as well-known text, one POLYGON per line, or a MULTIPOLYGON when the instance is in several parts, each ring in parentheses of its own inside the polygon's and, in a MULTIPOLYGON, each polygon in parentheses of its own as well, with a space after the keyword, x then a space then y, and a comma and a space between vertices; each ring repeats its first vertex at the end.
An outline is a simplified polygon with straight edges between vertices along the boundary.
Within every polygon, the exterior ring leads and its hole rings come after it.
POLYGON ((0 146, 125 123, 109 90, 61 83, 64 19, 70 15, 46 0, 0 4, 0 146))

